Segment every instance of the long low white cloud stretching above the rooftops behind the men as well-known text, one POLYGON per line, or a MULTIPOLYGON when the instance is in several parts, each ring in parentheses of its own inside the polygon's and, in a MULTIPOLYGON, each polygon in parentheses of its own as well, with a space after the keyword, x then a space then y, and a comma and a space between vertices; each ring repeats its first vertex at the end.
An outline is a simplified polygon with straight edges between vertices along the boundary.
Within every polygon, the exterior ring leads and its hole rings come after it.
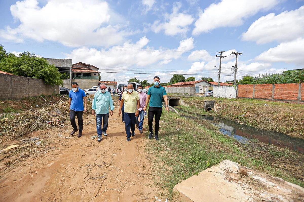
MULTIPOLYGON (((194 48, 193 38, 182 40, 177 49, 153 49, 148 45, 149 39, 142 37, 136 43, 126 42, 122 46, 113 46, 109 50, 79 48, 66 54, 68 59, 94 64, 97 67, 130 66, 145 67, 156 63, 167 64, 172 59, 178 59, 184 52, 194 48)), ((109 69, 109 68, 107 68, 109 69)))

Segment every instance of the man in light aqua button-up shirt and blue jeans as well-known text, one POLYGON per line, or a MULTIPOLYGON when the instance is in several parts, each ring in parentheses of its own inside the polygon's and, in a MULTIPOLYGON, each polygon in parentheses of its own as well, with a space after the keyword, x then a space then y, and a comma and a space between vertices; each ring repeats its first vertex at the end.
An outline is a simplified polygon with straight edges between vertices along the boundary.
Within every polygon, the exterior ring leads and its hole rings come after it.
POLYGON ((111 93, 107 90, 107 86, 100 84, 100 91, 97 91, 94 95, 92 103, 92 114, 96 114, 96 129, 97 129, 97 141, 102 140, 102 134, 107 136, 108 121, 109 121, 109 106, 111 109, 110 115, 113 115, 114 105, 111 97, 111 93), (103 119, 103 127, 102 127, 103 119))

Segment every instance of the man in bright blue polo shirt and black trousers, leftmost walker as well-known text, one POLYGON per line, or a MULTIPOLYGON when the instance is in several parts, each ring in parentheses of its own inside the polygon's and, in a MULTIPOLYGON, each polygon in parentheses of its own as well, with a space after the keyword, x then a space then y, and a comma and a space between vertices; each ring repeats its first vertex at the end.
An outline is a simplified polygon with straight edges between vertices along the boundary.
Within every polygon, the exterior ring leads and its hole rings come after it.
POLYGON ((69 113, 73 131, 70 135, 74 135, 79 129, 77 137, 81 137, 83 129, 82 115, 86 110, 87 97, 85 96, 85 91, 79 88, 77 82, 72 82, 72 90, 70 90, 69 93, 69 113), (85 103, 85 107, 83 107, 83 103, 85 103), (78 120, 78 129, 75 121, 76 116, 78 120))

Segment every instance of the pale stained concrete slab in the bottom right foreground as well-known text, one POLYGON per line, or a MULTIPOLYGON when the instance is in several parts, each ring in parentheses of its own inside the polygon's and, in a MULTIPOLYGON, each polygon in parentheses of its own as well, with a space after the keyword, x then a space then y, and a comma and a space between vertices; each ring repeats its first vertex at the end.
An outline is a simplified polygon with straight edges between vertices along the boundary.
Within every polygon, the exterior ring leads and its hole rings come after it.
POLYGON ((281 178, 223 160, 173 188, 179 201, 304 201, 304 188, 281 178), (248 176, 239 169, 244 168, 248 176))

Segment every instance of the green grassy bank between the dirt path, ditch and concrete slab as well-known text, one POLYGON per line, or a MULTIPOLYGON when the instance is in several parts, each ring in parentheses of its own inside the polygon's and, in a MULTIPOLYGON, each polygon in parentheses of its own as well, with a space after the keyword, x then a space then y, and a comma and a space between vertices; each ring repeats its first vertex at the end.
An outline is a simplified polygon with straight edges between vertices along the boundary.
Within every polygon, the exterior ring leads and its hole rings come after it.
MULTIPOLYGON (((148 147, 154 155, 154 172, 157 186, 168 190, 168 198, 173 197, 172 189, 180 180, 185 180, 202 170, 211 167, 222 160, 228 159, 251 167, 273 176, 304 187, 301 177, 295 177, 281 167, 273 166, 273 160, 263 155, 251 154, 243 145, 233 138, 223 136, 218 130, 206 128, 188 118, 175 113, 162 113, 159 141, 153 141, 148 147), (170 150, 166 150, 170 148, 170 150)), ((257 150, 258 152, 258 150, 257 150)), ((288 158, 292 160, 294 154, 289 150, 265 151, 271 158, 288 158), (292 153, 292 155, 290 154, 292 153)), ((302 157, 302 156, 301 156, 302 157)), ((302 166, 304 164, 302 162, 302 166)), ((300 174, 301 176, 301 174, 300 174)))

